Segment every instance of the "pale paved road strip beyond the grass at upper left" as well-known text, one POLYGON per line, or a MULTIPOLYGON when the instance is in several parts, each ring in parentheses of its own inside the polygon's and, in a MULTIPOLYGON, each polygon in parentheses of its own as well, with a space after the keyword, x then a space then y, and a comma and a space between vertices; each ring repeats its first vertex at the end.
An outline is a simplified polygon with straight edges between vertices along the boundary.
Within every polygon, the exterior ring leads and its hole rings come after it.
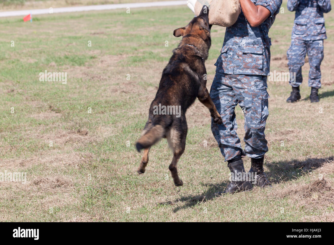
MULTIPOLYGON (((90 5, 90 6, 79 6, 79 7, 65 7, 65 8, 53 8, 53 13, 65 13, 65 12, 77 12, 77 11, 91 11, 91 10, 108 10, 108 9, 126 9, 131 8, 143 8, 143 7, 156 7, 156 6, 175 6, 175 5, 186 5, 187 1, 161 1, 161 2, 150 2, 150 3, 124 3, 124 4, 105 4, 105 5, 90 5)), ((10 16, 26 16, 29 13, 32 16, 36 14, 49 14, 49 9, 28 9, 19 11, 4 11, 0 12, 0 17, 10 16)))

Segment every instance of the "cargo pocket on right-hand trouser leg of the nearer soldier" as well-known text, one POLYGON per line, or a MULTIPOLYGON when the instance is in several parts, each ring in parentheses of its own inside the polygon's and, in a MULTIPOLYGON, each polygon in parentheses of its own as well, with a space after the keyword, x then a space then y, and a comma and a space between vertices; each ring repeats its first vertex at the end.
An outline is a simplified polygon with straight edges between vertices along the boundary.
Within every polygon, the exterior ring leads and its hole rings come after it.
POLYGON ((252 109, 249 123, 252 125, 261 125, 266 122, 269 115, 268 98, 270 98, 266 89, 252 91, 252 109))

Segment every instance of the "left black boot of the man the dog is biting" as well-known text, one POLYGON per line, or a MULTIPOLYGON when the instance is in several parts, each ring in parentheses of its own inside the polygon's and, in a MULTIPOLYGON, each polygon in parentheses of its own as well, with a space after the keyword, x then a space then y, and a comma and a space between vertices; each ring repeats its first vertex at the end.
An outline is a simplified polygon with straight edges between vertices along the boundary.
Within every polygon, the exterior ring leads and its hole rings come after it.
POLYGON ((236 193, 240 191, 252 190, 252 183, 247 179, 244 179, 244 177, 246 177, 246 172, 241 158, 236 159, 236 161, 228 161, 227 166, 231 171, 231 182, 227 185, 223 192, 219 192, 217 194, 236 193), (241 181, 239 180, 240 178, 241 181))

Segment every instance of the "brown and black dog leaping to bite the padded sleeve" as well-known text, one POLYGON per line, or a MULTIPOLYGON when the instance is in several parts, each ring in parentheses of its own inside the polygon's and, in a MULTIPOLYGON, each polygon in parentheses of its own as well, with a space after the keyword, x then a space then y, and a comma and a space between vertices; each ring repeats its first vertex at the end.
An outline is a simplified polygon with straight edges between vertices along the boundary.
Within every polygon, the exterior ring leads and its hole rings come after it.
POLYGON ((148 163, 150 147, 161 138, 167 138, 174 153, 169 170, 176 186, 183 185, 177 175, 176 164, 186 144, 188 127, 185 113, 196 97, 209 109, 213 121, 222 123, 206 89, 204 61, 211 46, 208 16, 209 9, 204 5, 200 14, 187 26, 174 30, 174 36, 182 36, 182 41, 173 50, 173 55, 162 72, 159 89, 150 106, 148 121, 136 144, 138 151, 144 149, 144 156, 137 170, 142 174, 148 163))

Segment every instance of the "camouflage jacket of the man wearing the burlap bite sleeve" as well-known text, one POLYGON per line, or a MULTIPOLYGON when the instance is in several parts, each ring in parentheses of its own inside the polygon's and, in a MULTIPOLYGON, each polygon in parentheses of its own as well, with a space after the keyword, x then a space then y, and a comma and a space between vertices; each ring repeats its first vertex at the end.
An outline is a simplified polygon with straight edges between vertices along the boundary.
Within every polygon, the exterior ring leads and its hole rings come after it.
POLYGON ((259 26, 252 27, 241 11, 237 21, 226 27, 221 54, 215 63, 216 72, 227 74, 269 75, 269 28, 280 11, 282 0, 251 0, 266 7, 271 15, 259 26))

